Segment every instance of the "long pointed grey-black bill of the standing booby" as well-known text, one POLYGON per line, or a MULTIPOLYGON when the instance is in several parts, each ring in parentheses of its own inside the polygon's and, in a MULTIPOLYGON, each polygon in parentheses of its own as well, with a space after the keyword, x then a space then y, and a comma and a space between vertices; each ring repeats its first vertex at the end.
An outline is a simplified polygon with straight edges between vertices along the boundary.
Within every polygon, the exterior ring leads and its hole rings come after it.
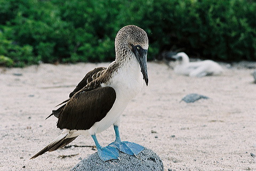
POLYGON ((132 51, 135 54, 139 64, 140 64, 140 71, 143 75, 143 79, 148 86, 148 69, 147 69, 147 53, 148 50, 142 49, 140 45, 134 46, 132 45, 132 51))

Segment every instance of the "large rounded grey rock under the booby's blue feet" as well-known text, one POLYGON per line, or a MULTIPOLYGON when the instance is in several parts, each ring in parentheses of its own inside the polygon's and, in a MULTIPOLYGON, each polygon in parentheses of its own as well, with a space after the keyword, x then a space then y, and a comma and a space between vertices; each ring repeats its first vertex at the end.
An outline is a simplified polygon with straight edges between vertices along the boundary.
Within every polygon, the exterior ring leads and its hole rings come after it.
POLYGON ((141 151, 137 157, 119 152, 119 160, 102 161, 95 152, 71 170, 164 170, 162 160, 150 149, 141 151))

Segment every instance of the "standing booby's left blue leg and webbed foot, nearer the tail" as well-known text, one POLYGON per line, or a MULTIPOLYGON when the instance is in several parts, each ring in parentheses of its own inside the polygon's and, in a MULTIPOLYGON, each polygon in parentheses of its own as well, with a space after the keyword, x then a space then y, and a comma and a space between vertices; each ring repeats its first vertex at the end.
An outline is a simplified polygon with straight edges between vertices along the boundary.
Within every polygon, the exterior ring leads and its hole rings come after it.
POLYGON ((92 135, 92 138, 94 140, 95 146, 98 150, 98 155, 101 160, 107 161, 112 159, 119 159, 119 151, 115 147, 107 146, 107 147, 101 147, 96 135, 92 135))

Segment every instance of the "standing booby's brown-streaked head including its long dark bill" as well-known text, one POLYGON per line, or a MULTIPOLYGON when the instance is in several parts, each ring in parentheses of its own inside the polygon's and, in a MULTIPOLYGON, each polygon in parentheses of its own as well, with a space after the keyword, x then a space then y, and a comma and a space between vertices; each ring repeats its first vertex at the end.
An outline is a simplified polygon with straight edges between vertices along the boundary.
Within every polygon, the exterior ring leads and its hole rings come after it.
POLYGON ((136 57, 140 64, 143 79, 148 86, 147 33, 135 25, 127 25, 120 29, 115 39, 116 61, 123 61, 130 57, 136 57), (131 54, 131 55, 129 55, 131 54))

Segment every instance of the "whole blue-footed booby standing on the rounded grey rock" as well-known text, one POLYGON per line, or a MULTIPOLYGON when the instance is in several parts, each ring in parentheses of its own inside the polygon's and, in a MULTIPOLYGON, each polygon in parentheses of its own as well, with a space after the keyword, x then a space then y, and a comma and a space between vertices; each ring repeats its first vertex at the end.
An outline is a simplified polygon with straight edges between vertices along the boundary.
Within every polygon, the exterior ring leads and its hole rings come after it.
MULTIPOLYGON (((52 115, 58 118, 62 133, 32 158, 54 151, 75 140, 78 135, 91 135, 103 160, 118 159, 119 151, 136 156, 144 147, 121 141, 118 126, 129 102, 148 85, 147 33, 135 25, 127 25, 115 38, 116 59, 107 68, 98 67, 85 75, 69 99, 52 115), (116 139, 101 147, 96 135, 114 125, 116 139)), ((59 105, 58 105, 59 106, 59 105)), ((50 117, 49 116, 49 117, 50 117)), ((48 117, 47 117, 48 118, 48 117)))

